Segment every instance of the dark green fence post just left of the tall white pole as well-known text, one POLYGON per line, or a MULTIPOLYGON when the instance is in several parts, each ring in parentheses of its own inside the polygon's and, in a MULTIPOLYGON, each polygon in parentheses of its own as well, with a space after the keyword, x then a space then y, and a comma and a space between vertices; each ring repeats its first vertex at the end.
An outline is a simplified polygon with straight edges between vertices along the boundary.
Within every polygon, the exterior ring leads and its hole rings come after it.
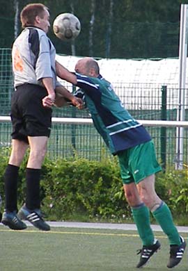
MULTIPOLYGON (((166 95, 167 86, 162 85, 162 115, 161 119, 166 120, 166 95)), ((166 127, 161 127, 161 159, 162 167, 166 169, 166 127)))

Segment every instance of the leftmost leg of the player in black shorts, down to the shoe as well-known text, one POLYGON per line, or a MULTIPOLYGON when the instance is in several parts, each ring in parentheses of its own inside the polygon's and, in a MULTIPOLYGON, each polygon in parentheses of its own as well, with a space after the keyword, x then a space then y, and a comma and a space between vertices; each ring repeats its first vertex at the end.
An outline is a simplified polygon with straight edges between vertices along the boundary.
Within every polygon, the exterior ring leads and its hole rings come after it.
POLYGON ((24 134, 24 119, 18 106, 19 92, 15 91, 11 100, 11 120, 13 125, 13 133, 11 134, 12 151, 6 172, 5 180, 5 211, 2 217, 2 223, 6 224, 10 229, 25 229, 26 224, 17 217, 17 179, 19 165, 21 164, 28 141, 24 134))

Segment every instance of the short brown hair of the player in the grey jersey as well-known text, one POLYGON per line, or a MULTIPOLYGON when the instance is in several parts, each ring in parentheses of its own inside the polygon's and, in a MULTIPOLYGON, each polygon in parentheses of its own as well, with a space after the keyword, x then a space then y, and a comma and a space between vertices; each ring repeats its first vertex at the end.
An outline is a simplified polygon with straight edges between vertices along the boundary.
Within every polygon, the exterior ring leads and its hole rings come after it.
POLYGON ((29 3, 26 5, 20 13, 22 28, 33 26, 36 16, 40 16, 42 18, 44 16, 44 11, 47 9, 48 8, 42 3, 29 3))

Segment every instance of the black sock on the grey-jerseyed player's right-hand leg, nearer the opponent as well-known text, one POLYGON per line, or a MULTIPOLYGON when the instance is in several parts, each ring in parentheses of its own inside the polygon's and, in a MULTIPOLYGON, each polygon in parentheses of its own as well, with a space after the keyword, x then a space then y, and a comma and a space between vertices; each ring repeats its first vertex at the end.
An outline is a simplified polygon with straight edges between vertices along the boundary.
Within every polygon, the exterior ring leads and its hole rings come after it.
POLYGON ((26 208, 40 208, 40 171, 26 168, 26 208))

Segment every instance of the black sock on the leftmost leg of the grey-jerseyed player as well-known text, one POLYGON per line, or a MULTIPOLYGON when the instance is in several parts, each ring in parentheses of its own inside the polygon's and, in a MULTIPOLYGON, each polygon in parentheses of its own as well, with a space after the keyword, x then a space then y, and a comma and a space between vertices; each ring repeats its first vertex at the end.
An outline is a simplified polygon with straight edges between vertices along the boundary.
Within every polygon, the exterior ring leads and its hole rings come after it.
POLYGON ((8 164, 4 174, 6 211, 17 211, 17 179, 19 167, 8 164))

